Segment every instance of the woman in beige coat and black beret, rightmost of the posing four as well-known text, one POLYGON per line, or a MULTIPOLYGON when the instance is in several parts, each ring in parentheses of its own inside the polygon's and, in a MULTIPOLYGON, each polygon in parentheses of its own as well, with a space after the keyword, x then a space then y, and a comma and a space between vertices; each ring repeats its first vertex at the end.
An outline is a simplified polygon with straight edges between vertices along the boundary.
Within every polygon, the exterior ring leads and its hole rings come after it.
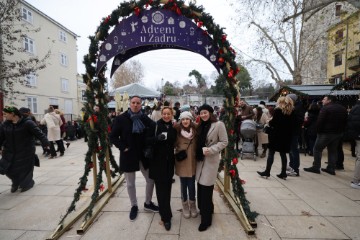
POLYGON ((197 198, 201 223, 198 230, 205 231, 212 223, 214 184, 220 163, 220 152, 228 144, 228 136, 223 122, 217 120, 214 109, 204 104, 199 108, 196 151, 197 198))

